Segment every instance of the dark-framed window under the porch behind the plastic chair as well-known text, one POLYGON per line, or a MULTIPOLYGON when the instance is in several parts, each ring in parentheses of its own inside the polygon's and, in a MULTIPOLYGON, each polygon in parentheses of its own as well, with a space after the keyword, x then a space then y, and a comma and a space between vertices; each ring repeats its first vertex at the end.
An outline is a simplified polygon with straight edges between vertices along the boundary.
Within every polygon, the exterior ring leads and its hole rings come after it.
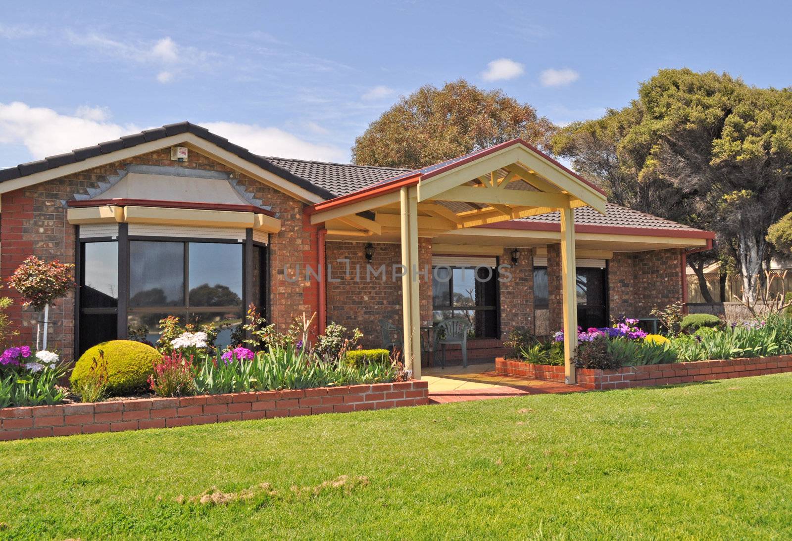
POLYGON ((497 270, 494 267, 432 267, 435 322, 470 321, 471 337, 497 338, 497 270))

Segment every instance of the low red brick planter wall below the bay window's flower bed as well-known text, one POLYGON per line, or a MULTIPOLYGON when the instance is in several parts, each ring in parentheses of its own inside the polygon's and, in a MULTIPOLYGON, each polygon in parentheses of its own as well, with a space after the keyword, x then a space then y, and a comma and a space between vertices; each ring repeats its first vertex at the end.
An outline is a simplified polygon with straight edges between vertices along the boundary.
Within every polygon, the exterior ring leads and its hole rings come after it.
POLYGON ((0 440, 296 417, 428 403, 427 381, 0 409, 0 440))

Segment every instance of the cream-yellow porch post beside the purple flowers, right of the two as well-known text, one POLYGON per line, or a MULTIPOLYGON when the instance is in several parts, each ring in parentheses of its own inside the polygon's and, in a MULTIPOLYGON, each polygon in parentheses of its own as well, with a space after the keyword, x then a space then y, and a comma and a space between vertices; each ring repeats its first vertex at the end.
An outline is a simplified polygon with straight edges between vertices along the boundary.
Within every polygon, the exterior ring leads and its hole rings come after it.
POLYGON ((575 274, 575 221, 572 209, 561 209, 561 273, 564 304, 564 373, 565 382, 575 378, 577 350, 577 293, 575 274))

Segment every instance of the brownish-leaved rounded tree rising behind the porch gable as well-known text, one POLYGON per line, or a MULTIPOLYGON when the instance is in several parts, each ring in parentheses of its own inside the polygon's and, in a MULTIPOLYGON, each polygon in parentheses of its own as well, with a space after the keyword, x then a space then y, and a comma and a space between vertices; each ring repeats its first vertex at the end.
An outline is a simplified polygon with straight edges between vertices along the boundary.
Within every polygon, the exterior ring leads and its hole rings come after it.
POLYGON ((459 79, 402 96, 356 138, 352 161, 416 169, 518 137, 546 149, 554 129, 530 105, 459 79))

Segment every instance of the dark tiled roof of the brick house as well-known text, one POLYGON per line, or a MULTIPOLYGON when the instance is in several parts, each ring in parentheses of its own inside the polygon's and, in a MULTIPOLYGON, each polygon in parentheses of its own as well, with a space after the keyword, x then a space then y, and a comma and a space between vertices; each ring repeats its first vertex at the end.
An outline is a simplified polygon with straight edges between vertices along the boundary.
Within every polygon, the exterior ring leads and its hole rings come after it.
MULTIPOLYGON (((372 187, 377 184, 392 182, 401 178, 415 176, 421 174, 423 176, 437 174, 444 170, 444 168, 458 165, 460 162, 467 161, 481 157, 484 153, 493 152, 499 146, 490 147, 489 149, 482 149, 474 153, 466 154, 454 158, 453 160, 444 161, 440 164, 431 165, 427 168, 418 169, 415 171, 403 168, 390 168, 390 167, 372 167, 367 165, 352 165, 352 164, 334 164, 322 161, 307 161, 282 157, 265 157, 251 153, 248 149, 242 146, 234 145, 228 139, 220 137, 219 135, 211 133, 204 127, 189 122, 181 122, 174 124, 167 124, 163 127, 154 128, 152 130, 145 130, 139 134, 125 135, 124 137, 115 139, 113 141, 102 142, 98 145, 87 146, 82 149, 76 149, 70 153, 63 153, 57 156, 46 157, 43 160, 31 161, 25 164, 17 165, 16 167, 0 169, 0 183, 6 180, 13 180, 23 176, 29 176, 37 172, 46 171, 48 169, 58 168, 63 165, 84 161, 91 157, 100 156, 101 154, 112 153, 116 150, 130 148, 137 146, 143 142, 156 141, 158 139, 166 138, 171 135, 191 133, 197 137, 211 142, 228 152, 236 154, 238 157, 258 165, 269 172, 280 176, 284 180, 295 183, 300 187, 329 200, 342 195, 348 195, 356 191, 363 190, 367 187, 372 187)), ((511 142, 509 142, 511 143, 511 142)), ((505 145, 508 143, 501 143, 505 145)), ((530 146, 523 142, 526 146, 530 146)), ((531 147, 533 148, 533 147, 531 147)), ((558 162, 555 162, 558 164, 558 162)), ((559 167, 565 168, 563 165, 558 164, 559 167)), ((571 174, 581 179, 585 183, 592 185, 588 180, 584 180, 577 173, 569 171, 571 174)), ((599 190, 599 188, 597 188, 599 190)), ((651 214, 644 214, 637 210, 628 209, 624 206, 615 205, 614 203, 607 203, 606 214, 600 214, 596 210, 589 207, 580 207, 575 210, 575 223, 576 225, 594 225, 594 226, 611 226, 611 227, 624 227, 624 228, 638 228, 638 229, 665 229, 669 232, 676 231, 680 233, 708 233, 688 227, 687 225, 678 224, 674 221, 658 218, 651 214)), ((530 218, 520 218, 519 220, 512 220, 501 223, 500 227, 509 228, 522 223, 523 226, 538 225, 541 227, 543 224, 554 227, 560 224, 561 217, 558 212, 548 214, 540 214, 539 216, 532 216, 530 218)), ((497 224, 495 224, 497 225, 497 224)))

